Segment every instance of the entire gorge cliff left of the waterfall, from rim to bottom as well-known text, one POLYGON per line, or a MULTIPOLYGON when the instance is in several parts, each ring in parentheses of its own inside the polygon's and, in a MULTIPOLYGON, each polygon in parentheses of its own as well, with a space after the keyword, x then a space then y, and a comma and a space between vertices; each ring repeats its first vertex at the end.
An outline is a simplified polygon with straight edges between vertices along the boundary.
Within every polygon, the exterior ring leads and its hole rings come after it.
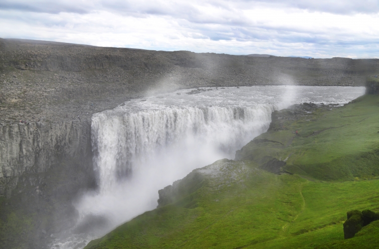
POLYGON ((0 126, 0 248, 43 249, 76 224, 73 200, 96 187, 90 122, 0 126))

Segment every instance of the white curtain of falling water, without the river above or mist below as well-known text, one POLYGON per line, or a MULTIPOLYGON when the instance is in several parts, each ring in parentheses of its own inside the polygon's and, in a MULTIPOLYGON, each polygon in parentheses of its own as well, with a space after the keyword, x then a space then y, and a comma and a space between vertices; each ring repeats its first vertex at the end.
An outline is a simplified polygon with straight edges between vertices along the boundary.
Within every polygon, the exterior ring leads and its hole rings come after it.
POLYGON ((233 158, 235 150, 267 129, 274 109, 273 105, 171 106, 136 113, 123 108, 96 114, 92 118, 92 145, 100 190, 112 188, 137 168, 157 160, 159 154, 177 153, 178 147, 188 156, 203 156, 198 154, 203 150, 233 158))

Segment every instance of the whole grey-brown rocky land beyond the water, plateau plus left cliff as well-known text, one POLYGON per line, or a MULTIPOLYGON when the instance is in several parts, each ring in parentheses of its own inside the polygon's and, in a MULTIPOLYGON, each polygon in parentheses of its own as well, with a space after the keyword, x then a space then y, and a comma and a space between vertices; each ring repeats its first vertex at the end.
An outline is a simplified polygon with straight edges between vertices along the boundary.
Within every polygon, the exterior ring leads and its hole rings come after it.
POLYGON ((19 219, 31 221, 2 230, 7 236, 1 243, 33 241, 38 248, 50 234, 72 225, 62 222, 63 214, 75 213, 71 201, 97 188, 94 113, 179 89, 364 86, 378 68, 378 59, 250 57, 0 39, 1 214, 6 220, 17 211, 19 219), (48 219, 38 223, 38 217, 48 219), (17 234, 24 239, 15 240, 17 234))

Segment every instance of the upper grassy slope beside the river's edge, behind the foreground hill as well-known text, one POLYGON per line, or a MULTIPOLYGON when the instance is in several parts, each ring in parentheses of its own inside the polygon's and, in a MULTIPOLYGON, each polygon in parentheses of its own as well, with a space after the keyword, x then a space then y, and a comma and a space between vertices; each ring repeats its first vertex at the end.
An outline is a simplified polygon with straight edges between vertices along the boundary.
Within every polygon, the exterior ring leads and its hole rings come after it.
MULTIPOLYGON (((285 169, 320 180, 353 180, 379 176, 379 99, 368 95, 331 111, 316 111, 305 119, 277 122, 276 128, 249 142, 241 159, 264 162, 268 156, 284 160, 285 169), (295 134, 298 130, 298 135, 295 134)), ((285 117, 294 118, 296 115, 285 117)), ((266 159, 267 160, 267 159, 266 159)))

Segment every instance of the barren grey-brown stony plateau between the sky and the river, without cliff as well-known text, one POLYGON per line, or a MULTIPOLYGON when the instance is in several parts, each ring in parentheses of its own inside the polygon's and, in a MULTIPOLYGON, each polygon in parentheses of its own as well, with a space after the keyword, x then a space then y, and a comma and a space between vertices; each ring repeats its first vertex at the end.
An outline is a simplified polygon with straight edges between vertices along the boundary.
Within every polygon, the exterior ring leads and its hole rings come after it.
POLYGON ((0 39, 0 123, 89 119, 130 98, 208 86, 363 86, 377 59, 251 57, 0 39), (34 117, 34 119, 33 119, 34 117))

